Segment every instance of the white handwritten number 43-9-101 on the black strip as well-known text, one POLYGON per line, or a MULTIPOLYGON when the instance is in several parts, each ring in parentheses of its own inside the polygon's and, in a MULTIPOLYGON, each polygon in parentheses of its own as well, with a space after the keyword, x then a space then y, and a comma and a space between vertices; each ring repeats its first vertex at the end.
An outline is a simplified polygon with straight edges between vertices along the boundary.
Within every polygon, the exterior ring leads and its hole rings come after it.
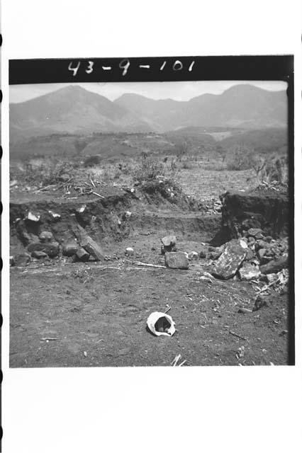
MULTIPOLYGON (((173 71, 181 71, 182 69, 187 70, 189 72, 192 71, 194 67, 194 61, 191 62, 189 67, 184 67, 184 64, 181 63, 179 59, 175 60, 172 66, 173 71)), ((160 67, 158 68, 160 71, 164 70, 164 67, 166 66, 167 61, 164 60, 160 67)), ((77 76, 77 72, 79 71, 79 68, 83 66, 84 71, 86 74, 91 74, 91 72, 94 71, 94 62, 91 60, 88 60, 87 62, 70 62, 68 65, 68 70, 72 71, 73 76, 77 76)), ((138 67, 140 69, 151 69, 150 64, 139 64, 138 67)), ((128 59, 122 59, 121 62, 118 64, 118 68, 121 69, 122 75, 125 76, 128 72, 128 69, 130 68, 130 61, 128 59)), ((102 66, 101 69, 103 71, 112 71, 113 67, 112 66, 102 66)), ((152 69, 155 69, 154 67, 152 69)))

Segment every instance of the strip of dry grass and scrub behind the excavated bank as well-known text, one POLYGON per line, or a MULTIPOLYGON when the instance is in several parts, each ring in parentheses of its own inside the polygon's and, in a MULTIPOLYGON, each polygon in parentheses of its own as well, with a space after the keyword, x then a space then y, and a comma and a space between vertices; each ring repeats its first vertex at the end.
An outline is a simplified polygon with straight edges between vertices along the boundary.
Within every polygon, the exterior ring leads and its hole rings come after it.
POLYGON ((16 179, 26 185, 45 186, 70 176, 83 180, 91 178, 118 187, 133 187, 135 183, 162 177, 181 185, 184 193, 198 200, 218 198, 226 190, 251 190, 263 181, 286 183, 288 179, 288 164, 282 157, 259 157, 257 161, 250 161, 248 166, 249 169, 230 169, 228 161, 224 162, 217 156, 203 160, 181 160, 175 156, 160 159, 154 154, 142 154, 136 160, 115 163, 102 161, 89 167, 79 159, 31 159, 21 166, 12 167, 10 176, 11 180, 16 179))

